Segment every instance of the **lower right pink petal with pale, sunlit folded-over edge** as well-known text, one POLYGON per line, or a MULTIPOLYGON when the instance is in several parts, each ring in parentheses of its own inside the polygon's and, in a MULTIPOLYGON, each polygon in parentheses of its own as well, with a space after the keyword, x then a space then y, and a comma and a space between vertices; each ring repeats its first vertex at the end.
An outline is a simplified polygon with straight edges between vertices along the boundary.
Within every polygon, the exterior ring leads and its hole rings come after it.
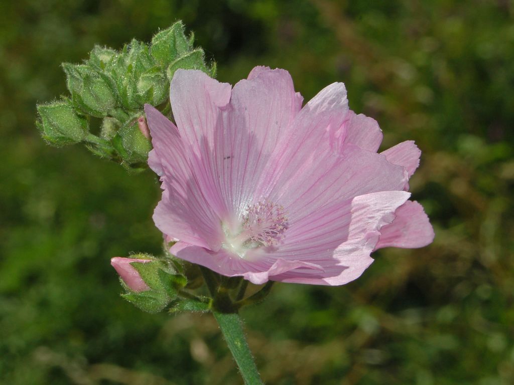
POLYGON ((393 221, 395 210, 409 196, 405 191, 361 195, 291 225, 284 245, 273 255, 318 264, 323 272, 292 270, 271 279, 341 285, 358 278, 373 262, 370 254, 378 242, 379 229, 393 221))

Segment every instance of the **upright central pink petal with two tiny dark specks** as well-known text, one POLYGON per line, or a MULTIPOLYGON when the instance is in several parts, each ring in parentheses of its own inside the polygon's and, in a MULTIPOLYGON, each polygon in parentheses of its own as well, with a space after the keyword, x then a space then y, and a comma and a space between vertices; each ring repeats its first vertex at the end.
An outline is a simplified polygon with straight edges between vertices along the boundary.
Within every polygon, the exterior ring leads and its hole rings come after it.
POLYGON ((271 153, 298 112, 287 71, 258 67, 248 77, 234 86, 224 126, 215 132, 216 188, 234 213, 253 200, 263 172, 273 167, 271 153))

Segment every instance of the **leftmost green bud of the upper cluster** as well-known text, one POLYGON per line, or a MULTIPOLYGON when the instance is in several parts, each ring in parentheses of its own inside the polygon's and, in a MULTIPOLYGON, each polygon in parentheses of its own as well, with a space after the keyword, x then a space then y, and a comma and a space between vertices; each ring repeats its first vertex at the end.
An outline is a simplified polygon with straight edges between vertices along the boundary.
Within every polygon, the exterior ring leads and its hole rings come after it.
POLYGON ((87 120, 75 113, 67 102, 39 105, 41 120, 37 126, 48 143, 62 146, 84 140, 88 132, 87 120))

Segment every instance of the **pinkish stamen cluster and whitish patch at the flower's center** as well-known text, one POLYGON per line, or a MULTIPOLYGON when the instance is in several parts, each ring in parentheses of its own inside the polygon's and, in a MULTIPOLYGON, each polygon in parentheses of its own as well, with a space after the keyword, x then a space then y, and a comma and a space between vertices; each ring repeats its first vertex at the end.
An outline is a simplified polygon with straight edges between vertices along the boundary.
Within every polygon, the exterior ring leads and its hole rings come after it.
POLYGON ((248 205, 239 232, 232 235, 225 229, 225 246, 244 258, 250 248, 278 245, 284 238, 287 225, 283 206, 269 201, 248 205))

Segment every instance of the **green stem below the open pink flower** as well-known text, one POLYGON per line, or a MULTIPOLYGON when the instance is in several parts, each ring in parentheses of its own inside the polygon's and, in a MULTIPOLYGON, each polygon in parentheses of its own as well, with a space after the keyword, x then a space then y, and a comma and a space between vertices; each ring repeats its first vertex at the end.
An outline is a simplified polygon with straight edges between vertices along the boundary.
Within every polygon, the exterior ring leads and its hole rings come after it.
POLYGON ((263 382, 246 342, 239 315, 237 313, 219 313, 216 311, 213 311, 212 314, 216 321, 218 321, 219 329, 221 329, 225 341, 227 341, 228 348, 232 352, 245 385, 262 385, 263 382))

